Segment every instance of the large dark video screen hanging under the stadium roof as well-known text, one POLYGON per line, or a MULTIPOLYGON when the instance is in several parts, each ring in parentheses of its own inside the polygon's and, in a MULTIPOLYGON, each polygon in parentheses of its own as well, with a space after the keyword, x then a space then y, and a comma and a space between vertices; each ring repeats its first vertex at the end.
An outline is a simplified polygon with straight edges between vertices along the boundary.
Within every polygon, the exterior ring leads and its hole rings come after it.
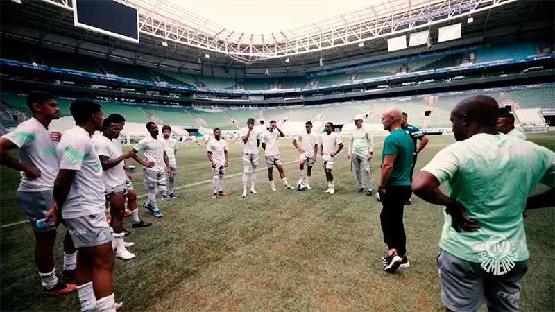
POLYGON ((74 24, 104 35, 139 42, 139 13, 114 0, 73 0, 74 24))

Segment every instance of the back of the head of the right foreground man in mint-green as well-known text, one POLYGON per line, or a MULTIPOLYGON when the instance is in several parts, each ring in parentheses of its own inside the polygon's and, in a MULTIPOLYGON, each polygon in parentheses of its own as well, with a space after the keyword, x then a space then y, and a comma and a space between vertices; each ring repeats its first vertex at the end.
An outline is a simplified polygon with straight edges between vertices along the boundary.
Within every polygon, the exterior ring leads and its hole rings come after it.
POLYGON ((451 112, 453 132, 458 141, 477 133, 497 133, 495 126, 499 104, 491 96, 469 96, 460 101, 451 112))

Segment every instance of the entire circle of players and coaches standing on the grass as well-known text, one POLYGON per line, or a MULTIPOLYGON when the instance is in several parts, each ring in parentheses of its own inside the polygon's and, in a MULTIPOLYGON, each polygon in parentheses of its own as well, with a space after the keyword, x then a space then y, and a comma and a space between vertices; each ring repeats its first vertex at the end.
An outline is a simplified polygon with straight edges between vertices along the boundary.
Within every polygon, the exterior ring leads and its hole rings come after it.
MULTIPOLYGON (((59 118, 56 98, 44 92, 31 92, 27 104, 33 117, 0 138, 0 163, 22 172, 17 199, 35 232, 35 263, 44 293, 63 295, 77 290, 82 311, 115 311, 121 304, 116 304, 112 288, 114 250, 115 257, 120 259, 135 257, 126 249, 132 243, 123 241, 126 207, 133 217, 133 228, 151 225, 139 218, 137 195, 125 159, 133 158, 144 167, 148 200, 143 207, 162 218, 164 214, 156 200, 177 197, 173 188, 177 147, 171 138, 171 128, 164 126, 163 137, 158 137, 157 125, 147 123, 149 135, 123 153, 118 139, 125 125, 123 116, 112 114, 104 118, 99 104, 76 100, 70 107, 76 126, 62 135, 48 130, 49 123, 59 118), (101 133, 94 135, 97 131, 101 133), (12 149, 17 149, 19 160, 8 153, 12 149), (137 155, 139 152, 144 153, 145 159, 137 155), (106 222, 107 206, 111 227, 106 222), (68 229, 64 239, 64 282, 56 275, 53 256, 56 227, 60 223, 68 229), (76 284, 70 284, 71 281, 76 284)), ((393 107, 382 115, 384 130, 390 132, 384 140, 377 192, 383 205, 380 220, 388 248, 382 257, 384 270, 395 272, 409 266, 403 209, 414 191, 428 202, 445 206, 438 266, 441 300, 447 310, 473 311, 484 300, 490 309, 517 310, 520 279, 527 270, 528 259, 522 212, 554 205, 553 189, 530 198, 527 194, 538 182, 555 186, 555 154, 524 141, 523 134, 514 126, 512 114, 499 112, 497 102, 488 96, 461 101, 451 119, 458 142, 441 150, 412 181, 416 156, 428 139, 407 123, 407 114, 400 108, 393 107), (421 141, 418 145, 417 140, 421 141), (449 183, 447 195, 438 188, 442 182, 449 183), (515 263, 506 275, 488 275, 479 270, 480 251, 487 248, 484 240, 495 235, 514 242, 515 263)), ((358 191, 366 190, 371 196, 373 138, 362 125, 362 116, 353 120, 355 128, 350 132, 348 159, 355 166, 358 191)), ((294 189, 284 174, 279 137, 284 137, 284 133, 275 121, 261 129, 255 128, 253 119, 248 119, 247 128, 241 130, 242 197, 247 196, 249 172, 250 193, 257 193, 260 141, 271 189, 276 190, 274 166, 284 188, 294 189)), ((319 151, 327 180, 325 192, 333 195, 332 169, 343 149, 334 125, 326 123, 325 132, 318 138, 307 121, 305 131, 293 139, 293 146, 300 154, 297 189, 311 189, 311 168, 319 151)), ((207 142, 207 156, 212 167, 212 198, 216 200, 227 195, 223 181, 228 166, 227 144, 217 128, 207 142)))

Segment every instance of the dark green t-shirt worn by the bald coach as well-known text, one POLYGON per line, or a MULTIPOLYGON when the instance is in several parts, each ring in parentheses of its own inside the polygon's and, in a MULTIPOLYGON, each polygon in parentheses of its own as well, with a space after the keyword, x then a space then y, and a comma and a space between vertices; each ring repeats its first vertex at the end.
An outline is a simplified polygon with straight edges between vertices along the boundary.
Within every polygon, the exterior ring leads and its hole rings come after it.
POLYGON ((411 185, 411 168, 414 153, 414 144, 404 130, 397 129, 391 132, 384 141, 382 164, 386 155, 395 155, 393 171, 387 180, 387 186, 397 187, 411 185))

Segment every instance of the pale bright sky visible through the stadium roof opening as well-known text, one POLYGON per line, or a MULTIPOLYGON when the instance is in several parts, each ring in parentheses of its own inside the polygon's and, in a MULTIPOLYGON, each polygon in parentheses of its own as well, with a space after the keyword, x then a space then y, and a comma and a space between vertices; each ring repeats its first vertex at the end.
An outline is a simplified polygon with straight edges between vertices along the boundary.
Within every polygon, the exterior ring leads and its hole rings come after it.
POLYGON ((168 0, 237 33, 276 33, 338 17, 371 0, 168 0))

